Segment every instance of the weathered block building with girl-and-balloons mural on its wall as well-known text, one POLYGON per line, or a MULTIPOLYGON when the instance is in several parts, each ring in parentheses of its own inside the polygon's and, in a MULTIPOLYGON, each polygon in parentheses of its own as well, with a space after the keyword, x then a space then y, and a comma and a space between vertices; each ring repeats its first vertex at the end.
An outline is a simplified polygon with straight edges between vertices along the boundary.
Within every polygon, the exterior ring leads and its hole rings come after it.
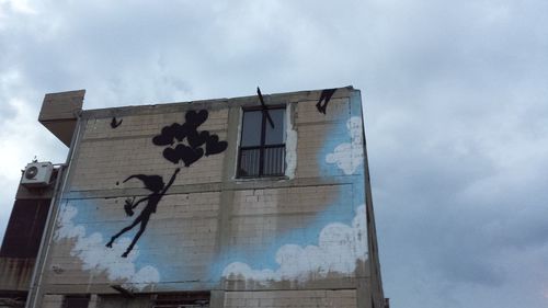
POLYGON ((0 258, 7 307, 387 306, 358 90, 104 110, 83 96, 45 96, 39 121, 70 150, 48 186, 18 193, 47 205, 27 263, 0 258))

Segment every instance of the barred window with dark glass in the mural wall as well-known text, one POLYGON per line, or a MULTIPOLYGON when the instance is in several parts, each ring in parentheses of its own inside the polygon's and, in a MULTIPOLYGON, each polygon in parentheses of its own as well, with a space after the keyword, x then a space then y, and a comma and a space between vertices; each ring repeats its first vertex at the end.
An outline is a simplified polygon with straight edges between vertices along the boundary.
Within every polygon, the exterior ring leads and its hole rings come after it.
POLYGON ((238 178, 284 175, 284 170, 285 107, 243 110, 238 178))

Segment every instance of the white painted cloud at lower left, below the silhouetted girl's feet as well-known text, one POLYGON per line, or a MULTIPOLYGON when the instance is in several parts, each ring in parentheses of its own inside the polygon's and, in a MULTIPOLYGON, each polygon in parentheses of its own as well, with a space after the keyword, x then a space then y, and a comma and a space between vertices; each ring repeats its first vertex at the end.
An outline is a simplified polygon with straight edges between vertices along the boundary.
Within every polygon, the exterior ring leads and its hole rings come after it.
POLYGON ((55 239, 76 240, 70 254, 82 261, 83 271, 104 271, 109 280, 126 280, 128 286, 137 289, 142 289, 147 285, 160 281, 160 273, 153 266, 146 265, 136 269, 135 260, 139 251, 137 246, 127 258, 121 258, 129 246, 130 239, 119 238, 112 248, 106 248, 101 233, 94 232, 87 236, 83 226, 72 223, 77 214, 78 209, 76 207, 65 206, 57 220, 58 229, 55 239))

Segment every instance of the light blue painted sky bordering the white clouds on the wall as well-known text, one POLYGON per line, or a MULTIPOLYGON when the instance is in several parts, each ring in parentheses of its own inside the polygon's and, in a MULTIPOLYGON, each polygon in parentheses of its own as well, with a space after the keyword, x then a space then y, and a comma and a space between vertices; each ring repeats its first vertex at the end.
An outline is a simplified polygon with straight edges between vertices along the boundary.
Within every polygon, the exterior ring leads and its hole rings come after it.
MULTIPOLYGON (((358 100, 352 101, 352 109, 355 110, 355 113, 358 115, 359 110, 356 109, 356 104, 359 106, 358 100)), ((330 135, 327 136, 327 140, 316 159, 318 160, 318 166, 323 176, 336 176, 343 174, 341 169, 339 169, 336 164, 328 163, 326 157, 333 152, 336 146, 350 141, 351 135, 346 122, 344 121, 333 123, 329 132, 330 135)), ((235 246, 220 255, 217 255, 209 264, 210 267, 204 273, 204 276, 195 278, 214 283, 219 282, 225 267, 232 262, 243 262, 255 270, 276 271, 279 267, 279 264, 276 262, 276 253, 281 247, 285 244, 297 244, 302 248, 307 246, 318 246, 320 231, 328 225, 341 223, 351 226, 355 217, 356 208, 365 203, 364 167, 363 164, 356 167, 353 173, 355 176, 354 185, 339 185, 339 191, 333 195, 333 199, 327 202, 323 205, 323 210, 318 215, 311 216, 309 219, 304 219, 306 224, 298 228, 279 232, 266 247, 253 249, 253 247, 248 246, 235 246)), ((78 187, 73 190, 78 190, 78 187)), ((139 196, 137 199, 141 197, 142 196, 139 196)), ((82 235, 83 237, 88 238, 93 233, 101 235, 103 241, 102 244, 98 247, 99 254, 105 249, 104 244, 113 235, 117 233, 122 228, 129 226, 137 217, 126 216, 123 210, 123 198, 110 201, 104 198, 80 199, 78 196, 72 196, 69 206, 77 209, 77 215, 71 219, 70 224, 76 227, 83 227, 85 229, 85 235, 82 235), (105 206, 119 209, 117 210, 117 216, 113 216, 112 212, 105 214, 104 210, 100 210, 105 206), (109 221, 109 224, 103 224, 103 221, 109 221)), ((158 210, 163 210, 161 202, 158 210)), ((137 214, 139 210, 137 210, 137 214)), ((153 221, 155 215, 152 215, 151 219, 153 221)), ((138 256, 134 261, 136 269, 151 265, 160 273, 161 281, 174 282, 180 280, 180 277, 189 277, 192 273, 185 272, 184 261, 182 260, 184 260, 184 258, 192 258, 194 252, 192 250, 181 249, 178 254, 159 253, 158 249, 162 247, 179 247, 181 239, 165 237, 163 233, 156 233, 151 224, 153 223, 149 223, 148 228, 137 242, 138 249, 135 249, 135 251, 138 251, 138 256), (182 266, 173 266, 174 262, 182 263, 182 266)), ((176 224, 185 224, 185 221, 179 221, 176 224)), ((138 229, 139 225, 135 226, 134 229, 121 236, 115 241, 115 244, 119 243, 123 238, 126 238, 126 240, 130 242, 138 229)), ((125 249, 125 247, 123 249, 125 249)))

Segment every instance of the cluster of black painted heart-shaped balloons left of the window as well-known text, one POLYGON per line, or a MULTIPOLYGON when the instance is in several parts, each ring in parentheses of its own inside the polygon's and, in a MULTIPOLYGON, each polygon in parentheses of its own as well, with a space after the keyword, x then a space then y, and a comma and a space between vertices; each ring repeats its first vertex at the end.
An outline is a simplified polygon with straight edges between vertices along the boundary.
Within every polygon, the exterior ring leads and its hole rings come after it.
POLYGON ((203 156, 220 153, 226 150, 228 142, 219 141, 219 136, 209 134, 207 130, 197 130, 207 116, 206 110, 189 111, 185 114, 186 122, 184 124, 173 123, 164 126, 160 135, 152 138, 152 144, 169 146, 162 152, 163 158, 175 164, 182 161, 185 167, 190 167, 203 156), (205 149, 202 148, 204 145, 205 149))

